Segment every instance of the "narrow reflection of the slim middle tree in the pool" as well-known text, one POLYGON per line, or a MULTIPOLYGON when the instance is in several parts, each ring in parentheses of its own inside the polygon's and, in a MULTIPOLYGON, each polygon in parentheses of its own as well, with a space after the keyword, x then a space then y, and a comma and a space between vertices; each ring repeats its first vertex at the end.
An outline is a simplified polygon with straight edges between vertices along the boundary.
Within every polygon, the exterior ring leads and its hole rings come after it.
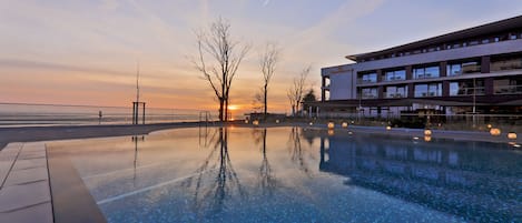
POLYGON ((254 143, 256 145, 262 144, 260 152, 263 154, 263 161, 259 166, 259 175, 258 175, 259 189, 264 195, 272 195, 275 189, 277 187, 277 179, 275 178, 275 174, 272 170, 270 163, 268 162, 268 158, 266 155, 266 151, 267 151, 266 150, 266 133, 267 133, 266 128, 262 130, 255 129, 253 131, 253 136, 254 136, 254 143))

